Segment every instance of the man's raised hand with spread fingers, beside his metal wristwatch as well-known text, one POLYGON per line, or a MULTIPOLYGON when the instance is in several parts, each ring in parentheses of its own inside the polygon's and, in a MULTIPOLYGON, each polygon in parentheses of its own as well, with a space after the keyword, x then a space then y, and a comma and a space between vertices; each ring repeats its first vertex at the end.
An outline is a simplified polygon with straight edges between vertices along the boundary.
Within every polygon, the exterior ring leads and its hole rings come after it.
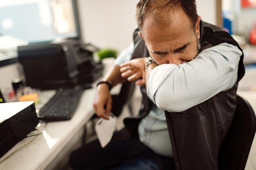
POLYGON ((120 65, 121 76, 123 78, 127 78, 129 82, 132 82, 137 79, 135 84, 145 85, 145 64, 146 57, 136 58, 130 60, 129 62, 125 62, 120 65))

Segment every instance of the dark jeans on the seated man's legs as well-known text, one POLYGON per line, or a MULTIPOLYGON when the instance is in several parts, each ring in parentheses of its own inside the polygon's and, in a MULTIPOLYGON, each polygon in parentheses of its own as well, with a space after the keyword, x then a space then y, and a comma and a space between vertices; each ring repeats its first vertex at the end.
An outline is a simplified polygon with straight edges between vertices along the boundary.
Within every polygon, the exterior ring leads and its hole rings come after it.
POLYGON ((69 160, 73 170, 175 170, 173 159, 153 152, 138 135, 129 140, 112 139, 105 148, 94 140, 74 150, 69 160))

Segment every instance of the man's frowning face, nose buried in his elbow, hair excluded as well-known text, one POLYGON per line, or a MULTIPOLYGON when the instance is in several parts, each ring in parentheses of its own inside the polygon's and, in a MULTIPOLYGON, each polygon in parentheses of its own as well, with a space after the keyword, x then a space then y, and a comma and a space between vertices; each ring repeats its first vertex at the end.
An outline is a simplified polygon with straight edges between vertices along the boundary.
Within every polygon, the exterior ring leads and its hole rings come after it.
MULTIPOLYGON (((164 14, 165 15, 165 14, 164 14)), ((157 64, 182 64, 198 54, 200 38, 200 16, 195 28, 182 9, 170 11, 170 22, 156 24, 152 15, 146 16, 142 33, 146 46, 157 64)))

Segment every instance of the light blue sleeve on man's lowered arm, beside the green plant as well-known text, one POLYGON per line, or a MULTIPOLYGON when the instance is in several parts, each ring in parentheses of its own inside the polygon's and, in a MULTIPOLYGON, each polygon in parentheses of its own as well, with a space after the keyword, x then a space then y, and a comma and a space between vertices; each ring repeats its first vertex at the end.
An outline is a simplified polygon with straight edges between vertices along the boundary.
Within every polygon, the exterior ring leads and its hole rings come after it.
POLYGON ((134 43, 132 42, 130 46, 128 46, 126 49, 124 49, 116 58, 114 61, 115 65, 120 65, 124 62, 130 61, 132 57, 132 53, 134 52, 134 43))

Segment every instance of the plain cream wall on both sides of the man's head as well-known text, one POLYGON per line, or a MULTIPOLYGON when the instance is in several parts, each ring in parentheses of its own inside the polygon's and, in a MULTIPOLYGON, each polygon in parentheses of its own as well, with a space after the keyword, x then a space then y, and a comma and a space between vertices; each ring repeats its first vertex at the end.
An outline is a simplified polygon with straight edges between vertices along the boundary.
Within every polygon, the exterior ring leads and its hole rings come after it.
MULTIPOLYGON (((119 52, 132 41, 137 28, 135 8, 139 0, 78 0, 83 38, 100 48, 119 52)), ((216 24, 216 0, 197 0, 198 14, 216 24)))

